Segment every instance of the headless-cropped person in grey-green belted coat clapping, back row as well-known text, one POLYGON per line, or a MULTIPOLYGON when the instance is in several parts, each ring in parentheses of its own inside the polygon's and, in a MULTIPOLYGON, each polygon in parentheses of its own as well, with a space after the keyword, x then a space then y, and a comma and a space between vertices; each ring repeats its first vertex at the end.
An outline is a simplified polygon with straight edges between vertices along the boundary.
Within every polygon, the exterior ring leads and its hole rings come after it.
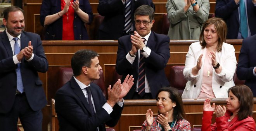
POLYGON ((167 0, 171 40, 199 40, 202 24, 208 19, 209 0, 167 0))

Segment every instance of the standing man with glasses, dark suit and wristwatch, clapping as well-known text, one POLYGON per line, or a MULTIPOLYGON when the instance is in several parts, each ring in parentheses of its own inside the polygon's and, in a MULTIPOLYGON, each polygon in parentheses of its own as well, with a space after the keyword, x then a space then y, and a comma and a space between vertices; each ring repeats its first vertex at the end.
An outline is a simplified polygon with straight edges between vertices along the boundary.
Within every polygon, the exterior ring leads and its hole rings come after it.
POLYGON ((118 39, 116 72, 133 75, 134 83, 124 99, 152 99, 156 92, 169 86, 164 68, 170 58, 170 39, 151 31, 154 9, 142 5, 135 10, 133 34, 118 39))

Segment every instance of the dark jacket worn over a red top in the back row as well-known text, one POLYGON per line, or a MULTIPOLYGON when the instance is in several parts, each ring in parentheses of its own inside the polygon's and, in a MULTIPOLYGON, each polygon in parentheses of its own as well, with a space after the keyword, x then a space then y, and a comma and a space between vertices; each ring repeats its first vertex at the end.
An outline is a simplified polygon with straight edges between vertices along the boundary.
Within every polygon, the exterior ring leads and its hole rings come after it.
MULTIPOLYGON (((76 0, 74 0, 76 1, 76 0)), ((72 8, 71 6, 69 8, 72 8)), ((89 15, 89 24, 93 20, 92 7, 88 0, 79 0, 79 8, 89 15)), ((44 26, 45 17, 61 11, 61 0, 43 0, 40 10, 40 22, 44 26)), ((74 13, 74 39, 88 40, 89 36, 85 28, 85 23, 74 13)), ((47 25, 45 40, 62 40, 62 17, 47 25)))

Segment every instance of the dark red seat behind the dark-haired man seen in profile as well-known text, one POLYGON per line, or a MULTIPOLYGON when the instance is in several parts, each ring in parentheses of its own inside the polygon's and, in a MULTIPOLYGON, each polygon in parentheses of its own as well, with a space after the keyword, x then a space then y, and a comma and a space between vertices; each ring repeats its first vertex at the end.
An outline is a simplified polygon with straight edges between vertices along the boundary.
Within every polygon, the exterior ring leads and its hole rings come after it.
MULTIPOLYGON (((66 82, 68 82, 71 79, 72 76, 72 68, 61 68, 59 72, 58 88, 61 88, 66 82)), ((92 83, 97 84, 101 88, 104 96, 106 96, 106 87, 104 84, 104 74, 102 70, 100 70, 100 79, 94 80, 92 81, 92 83)))

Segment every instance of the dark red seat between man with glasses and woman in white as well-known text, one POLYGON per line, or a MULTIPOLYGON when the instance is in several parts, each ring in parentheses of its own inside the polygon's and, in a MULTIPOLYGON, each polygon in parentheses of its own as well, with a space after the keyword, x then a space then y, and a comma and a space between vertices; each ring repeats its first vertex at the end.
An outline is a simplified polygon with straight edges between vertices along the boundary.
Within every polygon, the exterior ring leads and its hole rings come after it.
POLYGON ((173 66, 171 67, 171 73, 170 73, 170 86, 175 87, 179 90, 180 94, 182 95, 187 80, 185 80, 183 76, 183 69, 185 66, 173 66))

